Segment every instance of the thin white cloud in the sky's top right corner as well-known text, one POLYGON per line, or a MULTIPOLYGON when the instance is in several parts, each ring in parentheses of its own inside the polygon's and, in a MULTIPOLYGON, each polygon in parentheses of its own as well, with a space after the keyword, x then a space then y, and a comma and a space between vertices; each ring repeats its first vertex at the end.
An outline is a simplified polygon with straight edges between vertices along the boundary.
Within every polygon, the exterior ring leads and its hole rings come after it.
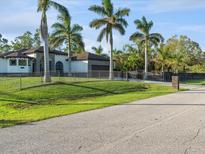
POLYGON ((205 8, 205 0, 153 0, 144 11, 160 13, 205 8))

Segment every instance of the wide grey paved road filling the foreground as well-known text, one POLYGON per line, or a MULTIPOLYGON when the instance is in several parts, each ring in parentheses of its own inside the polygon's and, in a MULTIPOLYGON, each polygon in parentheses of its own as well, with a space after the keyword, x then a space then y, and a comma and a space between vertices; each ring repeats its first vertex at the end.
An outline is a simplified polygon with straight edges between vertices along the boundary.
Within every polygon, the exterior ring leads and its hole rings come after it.
POLYGON ((0 129, 0 153, 204 154, 205 88, 0 129))

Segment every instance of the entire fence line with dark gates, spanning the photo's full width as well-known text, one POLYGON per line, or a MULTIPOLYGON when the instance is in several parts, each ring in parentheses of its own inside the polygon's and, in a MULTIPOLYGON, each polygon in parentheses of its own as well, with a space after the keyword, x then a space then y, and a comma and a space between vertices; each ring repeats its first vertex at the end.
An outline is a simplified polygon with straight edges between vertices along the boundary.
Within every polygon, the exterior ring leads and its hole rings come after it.
MULTIPOLYGON (((152 81, 171 81, 171 73, 158 73, 149 72, 147 74, 147 80, 152 81)), ((113 72, 114 80, 143 80, 143 72, 113 72)), ((55 82, 86 82, 96 80, 108 80, 109 71, 92 71, 87 73, 62 73, 51 72, 52 83, 55 82)), ((205 79, 205 74, 187 73, 180 74, 180 81, 193 80, 193 79, 205 79)), ((12 92, 27 87, 43 85, 43 73, 13 73, 13 74, 0 74, 0 93, 12 92)))

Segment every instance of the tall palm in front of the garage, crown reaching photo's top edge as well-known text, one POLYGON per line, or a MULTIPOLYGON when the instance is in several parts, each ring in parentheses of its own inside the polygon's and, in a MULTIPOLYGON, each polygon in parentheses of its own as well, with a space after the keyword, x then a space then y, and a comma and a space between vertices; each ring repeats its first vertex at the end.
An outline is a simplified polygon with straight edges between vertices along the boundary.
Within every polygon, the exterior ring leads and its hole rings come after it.
POLYGON ((121 35, 125 34, 125 28, 128 23, 124 19, 129 15, 130 10, 127 8, 115 10, 111 0, 102 0, 102 6, 92 5, 90 11, 100 15, 100 19, 95 19, 90 23, 91 28, 102 28, 98 41, 101 42, 105 37, 110 43, 110 73, 109 79, 113 79, 113 30, 117 30, 121 35))

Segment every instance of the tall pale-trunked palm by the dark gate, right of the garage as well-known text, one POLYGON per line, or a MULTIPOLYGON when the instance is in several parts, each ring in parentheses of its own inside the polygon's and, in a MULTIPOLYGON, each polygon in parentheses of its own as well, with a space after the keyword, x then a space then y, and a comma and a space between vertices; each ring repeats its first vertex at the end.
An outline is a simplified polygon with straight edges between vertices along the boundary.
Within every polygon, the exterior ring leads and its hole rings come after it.
POLYGON ((145 75, 144 79, 147 79, 148 73, 148 51, 150 50, 152 45, 158 45, 160 42, 164 41, 164 38, 159 33, 151 33, 150 31, 153 27, 152 21, 147 21, 145 17, 142 17, 141 20, 134 21, 137 29, 141 32, 135 32, 130 36, 130 40, 133 42, 140 41, 144 45, 145 49, 145 75))

